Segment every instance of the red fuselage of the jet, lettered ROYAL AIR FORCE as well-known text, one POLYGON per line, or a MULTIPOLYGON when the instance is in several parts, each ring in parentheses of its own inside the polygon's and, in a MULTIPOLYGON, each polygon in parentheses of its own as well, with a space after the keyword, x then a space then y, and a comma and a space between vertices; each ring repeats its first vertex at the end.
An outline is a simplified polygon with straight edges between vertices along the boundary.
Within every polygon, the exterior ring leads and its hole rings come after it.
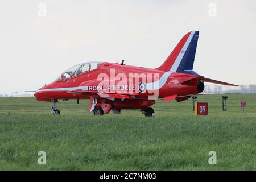
POLYGON ((162 99, 174 94, 177 94, 177 97, 187 97, 200 93, 201 90, 198 88, 200 78, 200 76, 185 73, 168 74, 158 69, 104 62, 96 69, 67 79, 61 75, 60 80, 36 90, 34 95, 39 101, 89 99, 93 93, 97 92, 128 94, 133 96, 133 99, 146 100, 148 96, 154 96, 154 94, 155 99, 162 99), (186 84, 177 82, 183 78, 191 79, 186 84), (106 84, 102 85, 102 81, 105 81, 106 84), (142 92, 143 90, 139 89, 141 82, 153 83, 153 86, 142 92), (74 90, 84 92, 72 92, 74 90))

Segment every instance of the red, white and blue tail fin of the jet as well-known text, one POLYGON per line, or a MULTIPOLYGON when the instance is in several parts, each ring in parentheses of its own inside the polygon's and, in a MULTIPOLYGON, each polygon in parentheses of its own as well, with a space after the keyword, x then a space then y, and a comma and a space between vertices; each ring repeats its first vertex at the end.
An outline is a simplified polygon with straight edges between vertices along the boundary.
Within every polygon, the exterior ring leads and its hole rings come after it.
POLYGON ((166 61, 156 69, 164 72, 180 72, 198 75, 193 72, 199 31, 191 31, 184 35, 166 61))

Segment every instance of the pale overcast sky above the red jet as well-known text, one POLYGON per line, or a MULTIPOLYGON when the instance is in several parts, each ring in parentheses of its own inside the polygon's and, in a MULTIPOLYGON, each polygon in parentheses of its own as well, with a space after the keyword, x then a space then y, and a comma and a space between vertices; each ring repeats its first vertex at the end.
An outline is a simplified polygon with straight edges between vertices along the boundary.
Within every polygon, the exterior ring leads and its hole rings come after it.
POLYGON ((86 61, 156 68, 192 30, 195 72, 256 84, 254 0, 10 0, 0 22, 0 94, 37 90, 86 61))

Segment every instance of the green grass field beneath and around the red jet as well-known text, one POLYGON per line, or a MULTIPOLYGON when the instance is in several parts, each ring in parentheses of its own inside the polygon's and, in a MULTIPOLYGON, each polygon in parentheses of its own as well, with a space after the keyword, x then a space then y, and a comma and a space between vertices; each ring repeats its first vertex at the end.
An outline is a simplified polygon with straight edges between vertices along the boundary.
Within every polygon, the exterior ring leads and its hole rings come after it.
POLYGON ((138 110, 94 117, 88 101, 60 101, 61 115, 52 115, 33 97, 0 98, 0 169, 255 170, 256 95, 228 94, 226 112, 221 95, 199 101, 208 102, 208 116, 196 117, 189 99, 156 101, 155 117, 146 118, 138 110), (39 151, 46 165, 38 164, 39 151))

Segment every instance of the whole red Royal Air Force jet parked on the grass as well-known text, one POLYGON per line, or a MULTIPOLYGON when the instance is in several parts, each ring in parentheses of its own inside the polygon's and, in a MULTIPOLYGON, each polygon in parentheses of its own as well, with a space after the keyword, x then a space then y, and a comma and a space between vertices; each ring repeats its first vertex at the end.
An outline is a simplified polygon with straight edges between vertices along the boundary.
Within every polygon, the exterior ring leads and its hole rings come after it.
MULTIPOLYGON (((233 85, 200 76, 193 71, 199 31, 191 31, 180 40, 164 63, 155 69, 130 65, 87 62, 69 68, 51 84, 36 90, 38 101, 90 100, 89 111, 103 115, 122 109, 141 109, 146 117, 154 115, 156 99, 181 102, 204 90, 204 82, 233 85)), ((233 85, 237 86, 237 85, 233 85)))

